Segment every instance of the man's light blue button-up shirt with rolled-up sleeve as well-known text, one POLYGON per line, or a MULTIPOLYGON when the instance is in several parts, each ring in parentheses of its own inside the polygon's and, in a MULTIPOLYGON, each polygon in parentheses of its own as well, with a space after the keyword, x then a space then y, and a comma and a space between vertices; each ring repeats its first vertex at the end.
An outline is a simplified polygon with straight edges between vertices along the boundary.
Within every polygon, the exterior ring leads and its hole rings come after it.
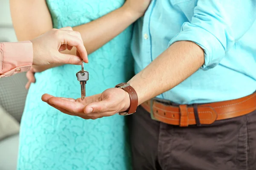
POLYGON ((157 97, 179 104, 208 103, 256 90, 256 0, 152 0, 134 26, 135 73, 181 40, 201 46, 205 63, 157 97))

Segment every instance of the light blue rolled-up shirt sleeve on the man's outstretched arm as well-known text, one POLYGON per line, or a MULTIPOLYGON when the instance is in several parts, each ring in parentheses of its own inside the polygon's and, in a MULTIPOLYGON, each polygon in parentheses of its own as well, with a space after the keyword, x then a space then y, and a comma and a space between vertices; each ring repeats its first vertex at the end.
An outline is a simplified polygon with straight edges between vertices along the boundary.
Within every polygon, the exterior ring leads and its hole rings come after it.
POLYGON ((204 49, 204 65, 208 70, 223 59, 225 53, 256 20, 256 0, 198 0, 191 22, 170 42, 192 41, 204 49))

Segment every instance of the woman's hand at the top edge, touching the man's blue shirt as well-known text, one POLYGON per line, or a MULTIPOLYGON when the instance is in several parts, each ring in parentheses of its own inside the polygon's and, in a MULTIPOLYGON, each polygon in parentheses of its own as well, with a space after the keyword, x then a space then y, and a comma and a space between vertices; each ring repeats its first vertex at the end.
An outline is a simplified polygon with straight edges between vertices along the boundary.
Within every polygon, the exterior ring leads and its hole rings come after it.
POLYGON ((151 0, 126 0, 122 8, 135 17, 142 17, 151 0))

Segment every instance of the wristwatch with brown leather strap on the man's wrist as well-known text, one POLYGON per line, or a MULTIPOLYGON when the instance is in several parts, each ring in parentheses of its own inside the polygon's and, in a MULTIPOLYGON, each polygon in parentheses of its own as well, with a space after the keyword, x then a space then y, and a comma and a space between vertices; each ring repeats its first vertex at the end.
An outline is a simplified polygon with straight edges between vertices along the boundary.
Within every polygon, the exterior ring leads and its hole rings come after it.
POLYGON ((115 86, 116 88, 122 88, 124 91, 126 91, 130 96, 131 105, 128 108, 127 111, 119 112, 119 115, 130 115, 132 113, 136 112, 136 109, 138 107, 138 96, 134 88, 131 87, 129 83, 123 82, 115 86))

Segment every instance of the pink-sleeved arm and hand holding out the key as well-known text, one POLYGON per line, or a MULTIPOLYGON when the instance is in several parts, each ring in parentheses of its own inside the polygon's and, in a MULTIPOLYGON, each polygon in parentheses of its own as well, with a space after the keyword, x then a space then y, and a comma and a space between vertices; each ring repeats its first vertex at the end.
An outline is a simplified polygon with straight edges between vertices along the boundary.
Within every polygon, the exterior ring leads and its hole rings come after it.
POLYGON ((28 71, 32 64, 81 64, 81 59, 88 62, 80 33, 71 27, 52 29, 31 42, 0 43, 0 78, 28 71), (71 50, 73 46, 77 48, 79 57, 60 53, 61 50, 71 50))

